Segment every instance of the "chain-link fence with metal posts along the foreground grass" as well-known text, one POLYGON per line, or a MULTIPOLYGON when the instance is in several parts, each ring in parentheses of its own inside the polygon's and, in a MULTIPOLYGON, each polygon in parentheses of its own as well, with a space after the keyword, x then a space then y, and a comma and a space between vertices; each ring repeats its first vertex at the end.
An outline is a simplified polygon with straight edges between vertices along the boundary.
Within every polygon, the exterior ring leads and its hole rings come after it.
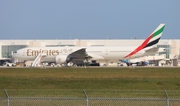
POLYGON ((33 97, 28 94, 36 95, 38 92, 4 90, 5 97, 0 97, 0 106, 180 106, 180 91, 82 90, 72 95, 71 92, 56 92, 64 94, 50 97, 52 95, 44 92, 43 96, 33 97))

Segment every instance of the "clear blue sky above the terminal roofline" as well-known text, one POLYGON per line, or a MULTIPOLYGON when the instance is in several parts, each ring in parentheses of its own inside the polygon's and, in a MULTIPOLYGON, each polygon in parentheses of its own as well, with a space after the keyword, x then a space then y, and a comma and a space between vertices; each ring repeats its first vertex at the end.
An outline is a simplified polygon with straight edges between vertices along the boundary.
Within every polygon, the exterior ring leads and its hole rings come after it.
POLYGON ((0 39, 180 39, 180 0, 0 0, 0 39))

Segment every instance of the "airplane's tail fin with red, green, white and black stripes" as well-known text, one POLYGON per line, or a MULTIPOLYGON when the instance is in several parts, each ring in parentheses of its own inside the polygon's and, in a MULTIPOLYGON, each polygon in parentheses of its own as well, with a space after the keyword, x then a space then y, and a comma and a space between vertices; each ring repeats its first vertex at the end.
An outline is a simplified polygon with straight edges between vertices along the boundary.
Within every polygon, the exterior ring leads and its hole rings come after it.
POLYGON ((148 38, 139 46, 137 47, 134 51, 132 51, 131 53, 129 53, 127 56, 125 56, 124 58, 130 57, 134 54, 136 54, 137 52, 139 52, 140 50, 146 48, 146 47, 150 47, 153 46, 155 44, 157 44, 161 38, 161 35, 163 33, 165 24, 160 24, 154 31, 153 33, 151 33, 148 38))

